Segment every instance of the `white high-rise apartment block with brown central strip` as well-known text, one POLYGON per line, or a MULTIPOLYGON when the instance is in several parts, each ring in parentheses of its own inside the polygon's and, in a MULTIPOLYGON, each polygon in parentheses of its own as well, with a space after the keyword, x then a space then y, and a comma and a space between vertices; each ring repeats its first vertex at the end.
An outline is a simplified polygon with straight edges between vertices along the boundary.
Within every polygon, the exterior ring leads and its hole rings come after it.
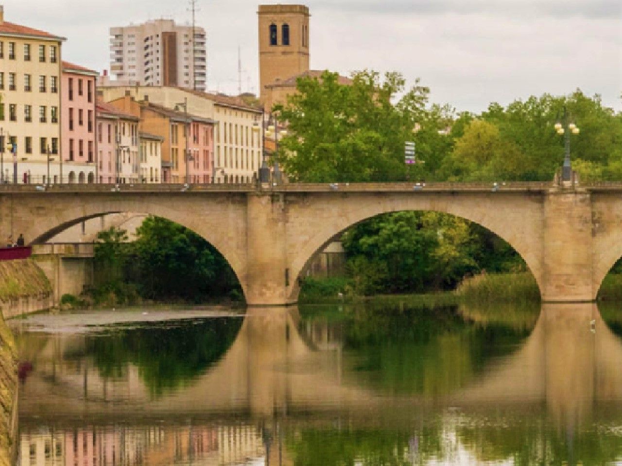
POLYGON ((205 91, 205 29, 171 19, 110 28, 110 70, 116 80, 143 86, 205 91))

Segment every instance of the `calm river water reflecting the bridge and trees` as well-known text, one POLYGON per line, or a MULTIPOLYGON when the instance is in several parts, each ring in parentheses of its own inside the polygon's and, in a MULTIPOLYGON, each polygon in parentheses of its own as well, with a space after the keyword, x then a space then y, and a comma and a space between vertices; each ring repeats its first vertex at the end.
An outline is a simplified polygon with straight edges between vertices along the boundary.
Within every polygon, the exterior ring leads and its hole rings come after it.
POLYGON ((32 316, 19 464, 622 464, 622 306, 32 316))

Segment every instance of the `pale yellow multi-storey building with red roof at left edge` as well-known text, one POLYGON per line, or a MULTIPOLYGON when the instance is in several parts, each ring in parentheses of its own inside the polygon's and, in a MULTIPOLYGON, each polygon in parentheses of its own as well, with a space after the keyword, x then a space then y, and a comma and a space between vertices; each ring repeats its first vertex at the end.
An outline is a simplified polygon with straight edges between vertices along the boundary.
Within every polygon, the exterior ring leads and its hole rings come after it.
POLYGON ((14 180, 16 162, 18 183, 43 183, 47 176, 47 150, 52 158, 60 157, 61 45, 64 40, 5 21, 0 6, 2 181, 14 180), (15 158, 7 150, 9 142, 17 144, 15 158))

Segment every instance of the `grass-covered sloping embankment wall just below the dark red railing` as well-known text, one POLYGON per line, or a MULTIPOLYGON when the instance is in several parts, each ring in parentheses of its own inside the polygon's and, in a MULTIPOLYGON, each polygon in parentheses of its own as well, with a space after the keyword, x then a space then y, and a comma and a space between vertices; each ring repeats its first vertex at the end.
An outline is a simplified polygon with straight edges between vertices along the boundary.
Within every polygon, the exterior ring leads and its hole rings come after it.
POLYGON ((53 305, 50 281, 32 259, 0 262, 0 311, 5 319, 53 305))

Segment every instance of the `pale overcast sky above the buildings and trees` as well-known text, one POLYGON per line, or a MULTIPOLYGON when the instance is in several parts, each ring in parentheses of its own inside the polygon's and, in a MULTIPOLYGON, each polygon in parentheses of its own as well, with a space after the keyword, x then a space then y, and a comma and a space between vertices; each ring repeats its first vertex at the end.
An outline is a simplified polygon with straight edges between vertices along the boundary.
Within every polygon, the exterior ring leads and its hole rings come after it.
MULTIPOLYGON (((7 21, 67 37, 63 58, 109 66, 108 28, 156 17, 189 21, 185 0, 0 0, 7 21)), ((276 3, 266 1, 266 3, 276 3)), ((481 111, 581 88, 622 110, 622 0, 308 0, 311 67, 399 70, 431 98, 481 111)), ((198 0, 208 88, 258 91, 257 5, 198 0)))

